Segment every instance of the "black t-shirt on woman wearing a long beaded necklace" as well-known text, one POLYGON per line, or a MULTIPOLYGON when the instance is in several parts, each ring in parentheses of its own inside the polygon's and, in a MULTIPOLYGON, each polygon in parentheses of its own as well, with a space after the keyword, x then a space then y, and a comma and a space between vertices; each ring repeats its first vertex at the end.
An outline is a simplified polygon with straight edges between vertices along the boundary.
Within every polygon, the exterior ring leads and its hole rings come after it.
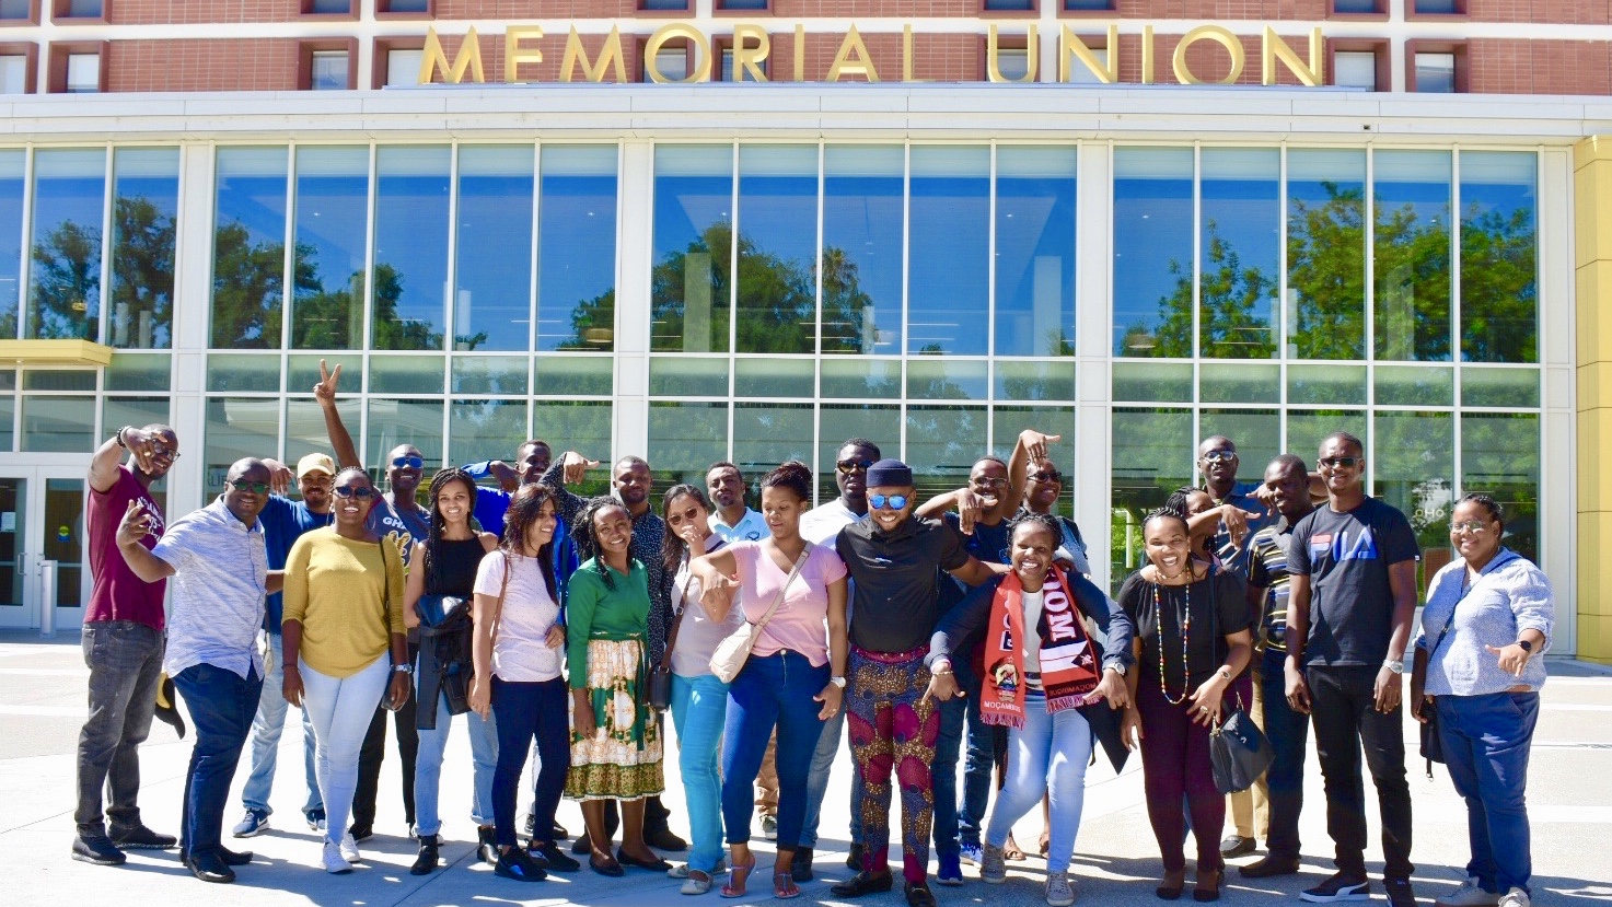
POLYGON ((1119 606, 1125 609, 1141 640, 1141 683, 1159 681, 1159 646, 1164 646, 1164 686, 1170 699, 1191 694, 1222 664, 1228 646, 1225 636, 1248 630, 1249 614, 1243 578, 1230 570, 1185 586, 1161 586, 1141 578, 1141 570, 1125 578, 1119 588, 1119 606), (1157 599, 1154 593, 1157 591, 1157 599), (1191 614, 1191 622, 1185 620, 1191 614), (1162 633, 1161 633, 1162 611, 1162 633), (1186 627, 1186 677, 1182 672, 1182 627, 1186 627))

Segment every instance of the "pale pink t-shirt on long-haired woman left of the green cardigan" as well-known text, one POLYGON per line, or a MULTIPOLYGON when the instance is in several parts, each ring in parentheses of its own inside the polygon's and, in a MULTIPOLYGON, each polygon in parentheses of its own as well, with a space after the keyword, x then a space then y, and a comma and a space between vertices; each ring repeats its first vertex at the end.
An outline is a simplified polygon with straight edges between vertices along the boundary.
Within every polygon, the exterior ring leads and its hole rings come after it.
MULTIPOLYGON (((498 598, 505 577, 503 549, 482 557, 476 593, 498 598)), ((509 556, 509 591, 493 638, 493 673, 498 680, 537 683, 559 677, 566 648, 550 649, 543 640, 559 620, 559 604, 548 594, 538 557, 509 556)))

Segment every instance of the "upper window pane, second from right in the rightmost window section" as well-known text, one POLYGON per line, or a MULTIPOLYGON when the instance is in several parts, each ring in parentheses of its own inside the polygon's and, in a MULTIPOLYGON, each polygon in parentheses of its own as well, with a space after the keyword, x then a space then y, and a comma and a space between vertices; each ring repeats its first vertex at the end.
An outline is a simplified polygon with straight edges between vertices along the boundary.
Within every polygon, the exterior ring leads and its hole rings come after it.
POLYGON ((1378 359, 1449 359, 1449 151, 1377 151, 1378 359))

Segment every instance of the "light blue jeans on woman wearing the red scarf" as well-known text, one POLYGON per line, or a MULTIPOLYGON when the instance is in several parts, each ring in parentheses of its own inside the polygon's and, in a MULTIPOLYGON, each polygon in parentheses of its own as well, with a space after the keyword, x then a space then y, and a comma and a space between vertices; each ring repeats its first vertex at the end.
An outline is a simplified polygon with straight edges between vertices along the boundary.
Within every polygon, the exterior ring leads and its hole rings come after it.
POLYGON ((1053 801, 1051 839, 1046 873, 1069 870, 1080 830, 1080 809, 1086 801, 1086 762, 1091 760, 1091 725, 1078 709, 1046 710, 1045 693, 1024 698, 1024 727, 1008 730, 1008 778, 999 794, 985 841, 1001 847, 1012 823, 1030 812, 1041 794, 1053 801))

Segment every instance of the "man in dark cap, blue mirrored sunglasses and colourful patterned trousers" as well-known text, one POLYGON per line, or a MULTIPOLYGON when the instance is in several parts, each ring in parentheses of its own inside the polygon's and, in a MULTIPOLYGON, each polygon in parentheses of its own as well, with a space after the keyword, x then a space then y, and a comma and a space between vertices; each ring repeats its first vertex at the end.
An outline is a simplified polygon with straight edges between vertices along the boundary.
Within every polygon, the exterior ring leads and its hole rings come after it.
POLYGON ((867 469, 866 520, 840 530, 835 548, 851 572, 850 688, 846 723, 862 788, 862 867, 833 886, 838 897, 890 891, 890 794, 901 793, 901 855, 911 907, 933 907, 929 889, 929 839, 940 712, 925 694, 930 672, 927 633, 940 622, 940 570, 974 586, 1006 567, 967 553, 956 528, 912 516, 912 470, 898 459, 867 469))

